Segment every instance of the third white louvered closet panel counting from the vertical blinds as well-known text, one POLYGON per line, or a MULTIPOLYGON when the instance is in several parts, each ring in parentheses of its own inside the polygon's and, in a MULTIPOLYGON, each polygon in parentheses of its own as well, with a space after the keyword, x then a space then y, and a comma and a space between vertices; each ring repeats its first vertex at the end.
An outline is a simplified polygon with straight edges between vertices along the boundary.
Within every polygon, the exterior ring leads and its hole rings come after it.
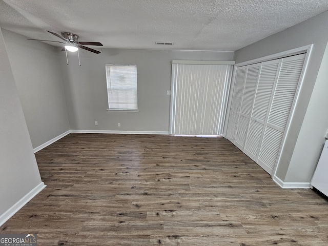
POLYGON ((281 59, 262 63, 261 73, 255 93, 254 107, 250 120, 249 131, 245 142, 244 153, 257 162, 264 126, 269 116, 269 106, 278 79, 281 59))

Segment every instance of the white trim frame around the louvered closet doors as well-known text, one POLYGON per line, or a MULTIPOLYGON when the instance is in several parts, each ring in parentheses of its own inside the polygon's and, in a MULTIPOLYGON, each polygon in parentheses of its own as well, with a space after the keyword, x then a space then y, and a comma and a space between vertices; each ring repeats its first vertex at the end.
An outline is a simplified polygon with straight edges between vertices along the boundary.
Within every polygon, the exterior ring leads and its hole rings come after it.
MULTIPOLYGON (((256 59, 249 60, 249 61, 244 61, 242 63, 235 64, 235 66, 234 66, 234 71, 233 71, 233 76, 232 76, 233 79, 236 76, 235 73, 236 73, 236 70, 237 70, 238 67, 248 66, 248 65, 255 64, 255 63, 262 63, 264 61, 269 61, 269 60, 274 60, 274 59, 280 59, 280 58, 283 58, 283 57, 286 57, 286 56, 292 56, 292 55, 298 55, 298 54, 306 53, 302 73, 301 73, 300 79, 299 79, 299 84, 298 84, 298 87, 297 87, 297 90, 296 90, 296 93, 295 93, 294 103, 292 105, 290 116, 289 116, 288 122, 287 122, 286 127, 285 127, 285 131, 284 131, 284 134, 283 134, 283 137, 282 137, 282 142, 281 142, 280 150, 279 150, 279 153, 278 153, 278 156, 277 156, 276 165, 275 165, 275 167, 273 169, 273 172, 272 172, 272 175, 271 175, 272 177, 274 177, 276 175, 277 168, 279 166, 281 151, 283 150, 284 145, 285 145, 286 135, 288 135, 288 132, 290 130, 291 119, 294 116, 295 106, 298 103, 299 92, 300 92, 300 89, 302 87, 303 80, 304 80, 304 71, 306 71, 306 68, 308 66, 309 57, 311 55, 312 48, 313 48, 312 44, 307 45, 307 46, 302 46, 302 47, 299 47, 299 48, 296 48, 296 49, 283 51, 283 52, 280 52, 280 53, 264 56, 264 57, 261 57, 261 58, 256 58, 256 59)), ((228 129, 228 124, 229 124, 229 115, 230 115, 230 109, 231 109, 231 103, 232 103, 233 88, 234 88, 234 80, 232 80, 232 82, 231 82, 226 121, 225 121, 225 124, 224 124, 224 130, 223 130, 223 134, 222 134, 223 137, 227 137, 227 129, 228 129)))

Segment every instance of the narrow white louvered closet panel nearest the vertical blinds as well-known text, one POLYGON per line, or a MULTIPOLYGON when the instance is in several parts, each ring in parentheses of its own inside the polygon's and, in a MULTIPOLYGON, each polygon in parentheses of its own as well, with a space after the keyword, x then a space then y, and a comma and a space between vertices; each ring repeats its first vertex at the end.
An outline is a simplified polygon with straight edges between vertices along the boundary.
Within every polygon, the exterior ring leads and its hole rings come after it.
POLYGON ((231 109, 229 114, 229 124, 227 129, 227 138, 232 142, 235 142, 236 129, 240 111, 240 102, 245 83, 246 70, 247 66, 238 67, 236 71, 235 85, 232 94, 231 109))

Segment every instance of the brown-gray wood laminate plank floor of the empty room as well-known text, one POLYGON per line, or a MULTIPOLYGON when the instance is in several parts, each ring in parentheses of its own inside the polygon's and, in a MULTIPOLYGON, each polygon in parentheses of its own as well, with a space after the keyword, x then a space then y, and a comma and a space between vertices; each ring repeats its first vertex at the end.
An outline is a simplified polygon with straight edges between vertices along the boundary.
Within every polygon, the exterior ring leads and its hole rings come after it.
POLYGON ((328 201, 283 190, 224 138, 69 134, 0 233, 42 245, 328 245, 328 201))

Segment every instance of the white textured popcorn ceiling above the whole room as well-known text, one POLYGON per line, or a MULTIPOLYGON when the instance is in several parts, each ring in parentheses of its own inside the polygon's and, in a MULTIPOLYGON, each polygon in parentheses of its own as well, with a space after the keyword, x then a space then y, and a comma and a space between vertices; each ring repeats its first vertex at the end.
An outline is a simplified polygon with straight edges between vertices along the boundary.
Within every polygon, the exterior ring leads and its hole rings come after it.
POLYGON ((0 26, 106 48, 235 51, 326 10, 328 0, 0 0, 0 26))

